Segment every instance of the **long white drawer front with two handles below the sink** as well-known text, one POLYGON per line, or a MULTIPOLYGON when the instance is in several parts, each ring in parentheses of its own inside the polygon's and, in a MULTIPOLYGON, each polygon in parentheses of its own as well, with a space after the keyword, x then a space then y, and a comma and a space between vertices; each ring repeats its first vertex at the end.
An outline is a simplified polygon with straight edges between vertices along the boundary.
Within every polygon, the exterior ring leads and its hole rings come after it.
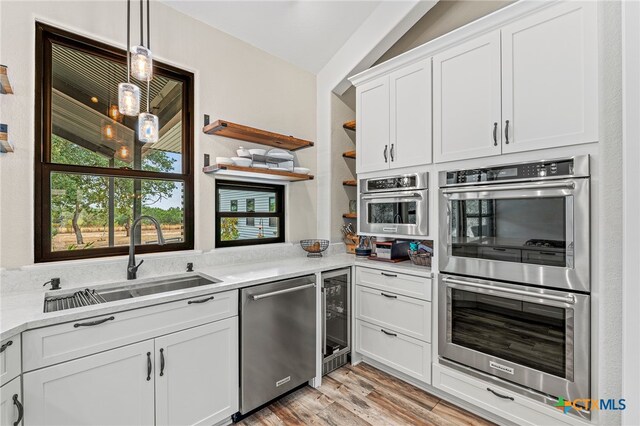
POLYGON ((23 334, 24 370, 90 355, 238 314, 238 291, 83 318, 23 334), (189 303, 212 297, 203 303, 189 303), (113 319, 111 319, 113 318, 113 319), (93 326, 76 326, 95 321, 93 326))

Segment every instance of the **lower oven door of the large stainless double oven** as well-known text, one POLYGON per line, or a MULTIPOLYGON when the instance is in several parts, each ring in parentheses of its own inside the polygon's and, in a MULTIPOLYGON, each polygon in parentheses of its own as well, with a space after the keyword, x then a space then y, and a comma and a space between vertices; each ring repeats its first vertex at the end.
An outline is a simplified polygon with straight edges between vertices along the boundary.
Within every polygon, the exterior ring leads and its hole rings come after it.
POLYGON ((589 296, 440 276, 438 353, 556 398, 589 398, 589 296))

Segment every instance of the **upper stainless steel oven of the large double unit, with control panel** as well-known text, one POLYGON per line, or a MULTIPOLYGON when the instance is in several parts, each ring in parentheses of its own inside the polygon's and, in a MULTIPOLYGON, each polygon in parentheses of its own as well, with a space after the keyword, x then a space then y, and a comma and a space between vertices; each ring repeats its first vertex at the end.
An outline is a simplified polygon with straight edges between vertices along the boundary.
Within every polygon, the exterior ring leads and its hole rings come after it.
POLYGON ((589 291, 589 157, 440 173, 440 270, 589 291))

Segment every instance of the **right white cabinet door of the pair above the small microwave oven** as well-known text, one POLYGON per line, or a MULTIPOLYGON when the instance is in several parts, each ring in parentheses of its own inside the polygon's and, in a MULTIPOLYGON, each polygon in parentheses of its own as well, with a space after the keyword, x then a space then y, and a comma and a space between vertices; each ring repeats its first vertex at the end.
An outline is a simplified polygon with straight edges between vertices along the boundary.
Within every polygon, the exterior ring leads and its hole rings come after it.
POLYGON ((392 168, 431 163, 431 59, 389 76, 392 168))

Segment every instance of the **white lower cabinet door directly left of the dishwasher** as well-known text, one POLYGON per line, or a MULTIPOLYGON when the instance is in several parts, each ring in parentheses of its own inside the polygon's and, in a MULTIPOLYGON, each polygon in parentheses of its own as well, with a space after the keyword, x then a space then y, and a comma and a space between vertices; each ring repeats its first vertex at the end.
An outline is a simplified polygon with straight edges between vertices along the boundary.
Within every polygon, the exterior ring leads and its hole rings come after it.
POLYGON ((156 424, 225 420, 238 411, 238 387, 238 317, 156 339, 156 424))

